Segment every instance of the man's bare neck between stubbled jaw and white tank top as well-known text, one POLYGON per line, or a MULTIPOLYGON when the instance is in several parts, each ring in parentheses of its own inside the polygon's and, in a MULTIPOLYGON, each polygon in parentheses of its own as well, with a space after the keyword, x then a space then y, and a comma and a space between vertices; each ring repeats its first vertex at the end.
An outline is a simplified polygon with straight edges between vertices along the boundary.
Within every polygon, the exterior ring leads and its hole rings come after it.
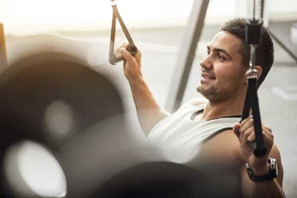
POLYGON ((242 115, 246 92, 236 96, 220 103, 208 101, 203 110, 202 119, 210 120, 226 116, 242 115))

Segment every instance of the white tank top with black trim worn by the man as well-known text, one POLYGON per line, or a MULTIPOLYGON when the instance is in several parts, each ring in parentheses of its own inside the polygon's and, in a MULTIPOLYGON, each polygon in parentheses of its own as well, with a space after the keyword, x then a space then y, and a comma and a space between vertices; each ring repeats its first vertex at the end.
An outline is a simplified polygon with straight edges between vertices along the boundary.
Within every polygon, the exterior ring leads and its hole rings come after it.
POLYGON ((234 124, 241 120, 240 115, 193 120, 197 112, 203 111, 205 105, 185 107, 161 120, 150 131, 148 143, 169 153, 174 152, 174 155, 178 154, 183 159, 173 160, 183 163, 198 154, 198 148, 203 142, 220 132, 233 129, 234 124))

